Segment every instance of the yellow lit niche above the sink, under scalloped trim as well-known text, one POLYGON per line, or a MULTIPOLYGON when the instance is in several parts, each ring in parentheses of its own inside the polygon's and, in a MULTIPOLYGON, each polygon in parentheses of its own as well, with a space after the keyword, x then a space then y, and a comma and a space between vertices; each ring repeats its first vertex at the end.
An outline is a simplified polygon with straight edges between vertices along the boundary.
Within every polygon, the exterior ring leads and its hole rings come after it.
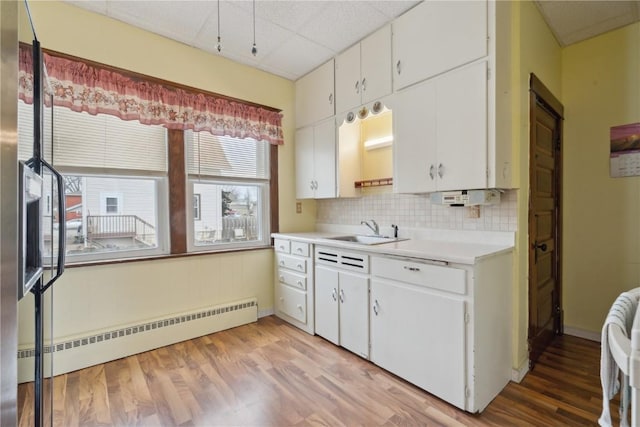
POLYGON ((337 118, 338 196, 390 193, 393 116, 378 101, 337 118))

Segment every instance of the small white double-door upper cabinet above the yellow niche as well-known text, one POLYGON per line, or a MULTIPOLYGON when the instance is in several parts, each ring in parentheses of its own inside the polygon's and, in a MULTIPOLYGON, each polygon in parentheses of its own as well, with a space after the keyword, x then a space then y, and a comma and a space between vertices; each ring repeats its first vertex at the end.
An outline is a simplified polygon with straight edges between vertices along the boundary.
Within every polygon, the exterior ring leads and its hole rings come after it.
POLYGON ((391 86, 389 25, 336 57, 336 112, 388 95, 391 86))

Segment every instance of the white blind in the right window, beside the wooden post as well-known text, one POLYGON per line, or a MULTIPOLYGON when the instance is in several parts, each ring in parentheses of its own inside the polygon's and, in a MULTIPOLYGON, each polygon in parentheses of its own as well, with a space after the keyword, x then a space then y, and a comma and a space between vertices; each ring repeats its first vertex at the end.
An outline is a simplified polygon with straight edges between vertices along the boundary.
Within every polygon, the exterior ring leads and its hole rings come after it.
POLYGON ((192 131, 185 141, 189 175, 269 179, 267 142, 192 131))

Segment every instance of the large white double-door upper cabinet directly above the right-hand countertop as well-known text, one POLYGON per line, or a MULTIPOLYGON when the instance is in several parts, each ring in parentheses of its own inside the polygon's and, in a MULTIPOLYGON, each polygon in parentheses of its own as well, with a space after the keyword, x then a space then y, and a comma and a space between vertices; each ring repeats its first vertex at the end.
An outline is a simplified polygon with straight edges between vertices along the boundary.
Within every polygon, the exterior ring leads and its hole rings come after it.
POLYGON ((487 187, 486 62, 404 90, 395 104, 395 192, 487 187))

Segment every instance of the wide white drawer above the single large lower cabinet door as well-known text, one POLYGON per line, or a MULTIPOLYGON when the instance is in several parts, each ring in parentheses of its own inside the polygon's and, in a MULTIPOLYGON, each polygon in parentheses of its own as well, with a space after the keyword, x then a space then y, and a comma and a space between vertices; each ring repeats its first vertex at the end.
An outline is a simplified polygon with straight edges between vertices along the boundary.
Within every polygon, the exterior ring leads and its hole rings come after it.
POLYGON ((459 268, 373 257, 371 269, 374 276, 461 295, 467 293, 466 272, 459 268))

